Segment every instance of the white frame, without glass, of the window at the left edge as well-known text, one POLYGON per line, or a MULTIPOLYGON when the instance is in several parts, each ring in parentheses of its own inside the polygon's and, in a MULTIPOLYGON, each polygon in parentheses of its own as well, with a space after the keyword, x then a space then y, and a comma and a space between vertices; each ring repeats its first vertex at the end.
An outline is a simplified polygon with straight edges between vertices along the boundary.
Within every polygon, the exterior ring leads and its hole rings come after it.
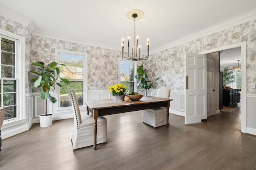
POLYGON ((15 76, 5 80, 16 80, 16 117, 4 120, 2 129, 5 129, 26 122, 26 38, 3 29, 0 29, 0 37, 15 42, 15 76))

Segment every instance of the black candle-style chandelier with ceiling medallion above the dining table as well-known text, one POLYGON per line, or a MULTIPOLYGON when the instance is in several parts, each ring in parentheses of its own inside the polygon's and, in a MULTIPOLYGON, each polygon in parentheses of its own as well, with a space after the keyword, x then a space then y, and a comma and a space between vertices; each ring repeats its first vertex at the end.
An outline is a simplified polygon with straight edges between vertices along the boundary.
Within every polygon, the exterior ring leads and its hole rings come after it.
POLYGON ((130 36, 128 37, 128 53, 124 53, 124 38, 122 39, 122 59, 123 60, 132 60, 132 61, 140 61, 140 60, 147 60, 149 55, 149 40, 147 39, 147 56, 141 57, 140 56, 140 45, 138 50, 138 35, 136 37, 136 18, 142 18, 143 12, 142 10, 130 10, 127 13, 127 18, 133 20, 134 18, 134 48, 132 47, 132 53, 130 52, 130 36))

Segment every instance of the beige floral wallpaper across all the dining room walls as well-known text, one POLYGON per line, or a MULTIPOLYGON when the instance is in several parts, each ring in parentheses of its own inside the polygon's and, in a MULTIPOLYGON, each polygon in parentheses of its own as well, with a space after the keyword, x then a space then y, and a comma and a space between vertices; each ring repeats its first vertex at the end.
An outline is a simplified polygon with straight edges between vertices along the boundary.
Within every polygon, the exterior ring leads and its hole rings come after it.
MULTIPOLYGON (((0 16, 0 28, 26 37, 26 92, 36 92, 31 88, 30 71, 34 69, 31 63, 54 61, 55 49, 64 49, 88 53, 88 90, 108 90, 109 86, 118 83, 118 63, 121 51, 104 49, 79 43, 34 36, 28 27, 7 20, 0 16)), ((209 49, 222 47, 242 41, 247 41, 247 94, 256 94, 249 88, 251 82, 256 82, 256 20, 235 27, 224 29, 217 33, 170 47, 151 54, 144 64, 151 80, 159 78, 155 88, 167 86, 172 90, 185 89, 184 53, 199 53, 209 49)))

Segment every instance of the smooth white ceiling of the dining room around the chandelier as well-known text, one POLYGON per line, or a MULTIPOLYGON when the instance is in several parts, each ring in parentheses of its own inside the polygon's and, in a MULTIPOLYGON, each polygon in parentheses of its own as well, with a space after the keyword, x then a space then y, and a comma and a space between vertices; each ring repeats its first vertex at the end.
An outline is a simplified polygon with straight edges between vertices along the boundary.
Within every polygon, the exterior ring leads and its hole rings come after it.
POLYGON ((134 38, 134 21, 128 20, 126 13, 140 9, 144 16, 136 21, 139 44, 146 49, 149 38, 150 50, 156 51, 255 10, 256 0, 0 0, 0 6, 5 9, 0 14, 6 18, 20 23, 20 18, 32 21, 35 35, 54 35, 120 50, 123 37, 126 43, 128 35, 134 38))

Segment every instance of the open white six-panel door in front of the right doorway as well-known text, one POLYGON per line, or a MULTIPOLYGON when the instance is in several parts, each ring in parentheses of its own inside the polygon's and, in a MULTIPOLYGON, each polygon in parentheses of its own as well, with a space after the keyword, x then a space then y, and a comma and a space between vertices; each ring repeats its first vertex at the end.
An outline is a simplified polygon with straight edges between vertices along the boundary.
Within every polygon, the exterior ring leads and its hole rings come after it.
POLYGON ((185 53, 185 124, 207 119, 206 55, 185 53))

